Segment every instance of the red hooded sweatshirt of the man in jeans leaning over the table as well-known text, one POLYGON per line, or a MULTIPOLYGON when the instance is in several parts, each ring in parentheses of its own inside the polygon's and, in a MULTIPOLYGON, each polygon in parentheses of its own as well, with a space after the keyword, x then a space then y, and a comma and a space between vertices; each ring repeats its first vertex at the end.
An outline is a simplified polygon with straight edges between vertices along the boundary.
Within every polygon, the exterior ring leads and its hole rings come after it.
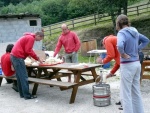
POLYGON ((21 37, 14 45, 11 54, 18 58, 25 59, 28 56, 31 56, 35 60, 38 60, 37 55, 33 51, 33 45, 35 41, 35 34, 26 33, 21 37))

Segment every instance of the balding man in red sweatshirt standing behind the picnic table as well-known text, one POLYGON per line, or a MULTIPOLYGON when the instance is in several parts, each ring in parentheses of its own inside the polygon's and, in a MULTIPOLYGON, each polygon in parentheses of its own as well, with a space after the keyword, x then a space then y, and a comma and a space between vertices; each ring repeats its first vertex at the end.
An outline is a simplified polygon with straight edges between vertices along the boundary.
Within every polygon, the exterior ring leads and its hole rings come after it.
MULTIPOLYGON (((77 63, 78 62, 78 50, 80 49, 80 40, 76 33, 70 31, 66 24, 62 24, 61 26, 62 34, 60 35, 55 52, 54 57, 58 54, 61 47, 63 46, 65 49, 65 62, 67 63, 77 63)), ((68 81, 71 81, 69 76, 68 81)))

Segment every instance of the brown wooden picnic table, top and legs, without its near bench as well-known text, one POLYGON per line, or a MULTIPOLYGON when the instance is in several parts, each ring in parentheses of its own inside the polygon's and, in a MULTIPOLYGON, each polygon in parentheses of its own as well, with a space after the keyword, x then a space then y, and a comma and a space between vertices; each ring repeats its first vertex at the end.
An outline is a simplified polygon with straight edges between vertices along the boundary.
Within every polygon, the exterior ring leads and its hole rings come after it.
MULTIPOLYGON (((29 72, 29 76, 31 76, 31 72, 34 72, 34 69, 36 69, 37 72, 34 73, 36 74, 37 78, 43 77, 42 73, 44 72, 44 75, 46 76, 44 79, 57 79, 58 82, 62 82, 62 84, 58 85, 61 90, 67 90, 72 87, 63 87, 65 83, 68 84, 69 82, 63 82, 62 76, 58 73, 65 69, 68 70, 69 73, 76 75, 74 80, 76 86, 73 87, 74 90, 72 91, 70 98, 70 103, 74 103, 78 87, 95 82, 95 79, 98 76, 96 73, 97 67, 101 67, 101 64, 62 63, 57 65, 27 66, 27 70, 29 72), (49 69, 51 70, 50 72, 49 69), (86 72, 91 73, 91 77, 88 79, 85 77, 86 74, 84 74, 86 72)), ((35 89, 33 89, 33 94, 36 94, 37 86, 38 84, 36 83, 35 89)))

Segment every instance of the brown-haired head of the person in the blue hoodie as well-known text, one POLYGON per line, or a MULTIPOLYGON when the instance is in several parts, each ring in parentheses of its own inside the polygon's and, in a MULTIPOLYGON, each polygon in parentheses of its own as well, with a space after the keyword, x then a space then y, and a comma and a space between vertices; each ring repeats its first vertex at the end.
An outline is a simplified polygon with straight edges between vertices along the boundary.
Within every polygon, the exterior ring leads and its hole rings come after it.
POLYGON ((125 26, 130 26, 129 19, 126 15, 121 14, 116 19, 116 30, 121 30, 125 26))

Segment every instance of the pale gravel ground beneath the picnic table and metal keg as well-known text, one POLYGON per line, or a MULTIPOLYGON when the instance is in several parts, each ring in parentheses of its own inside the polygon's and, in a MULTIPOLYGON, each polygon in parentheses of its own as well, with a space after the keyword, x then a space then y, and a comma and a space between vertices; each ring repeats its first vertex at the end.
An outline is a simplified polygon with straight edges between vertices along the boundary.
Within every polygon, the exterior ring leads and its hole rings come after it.
MULTIPOLYGON (((58 87, 39 85, 38 98, 24 100, 3 79, 0 87, 0 113, 121 113, 119 106, 115 105, 119 100, 119 81, 118 75, 107 80, 111 87, 111 105, 97 107, 92 98, 92 85, 95 83, 79 87, 75 103, 69 104, 71 90, 60 91, 58 87)), ((32 86, 30 84, 30 91, 32 86)), ((145 113, 150 113, 150 80, 142 80, 141 92, 145 113)))

